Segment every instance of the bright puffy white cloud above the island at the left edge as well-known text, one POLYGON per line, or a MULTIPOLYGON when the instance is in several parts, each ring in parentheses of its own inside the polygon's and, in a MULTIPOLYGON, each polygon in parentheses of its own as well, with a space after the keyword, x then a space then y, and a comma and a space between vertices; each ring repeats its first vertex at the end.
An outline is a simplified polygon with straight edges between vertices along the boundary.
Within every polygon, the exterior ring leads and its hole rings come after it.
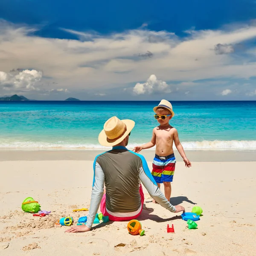
POLYGON ((36 84, 41 80, 42 75, 42 72, 37 70, 23 70, 17 75, 0 71, 0 86, 4 90, 39 90, 36 84))

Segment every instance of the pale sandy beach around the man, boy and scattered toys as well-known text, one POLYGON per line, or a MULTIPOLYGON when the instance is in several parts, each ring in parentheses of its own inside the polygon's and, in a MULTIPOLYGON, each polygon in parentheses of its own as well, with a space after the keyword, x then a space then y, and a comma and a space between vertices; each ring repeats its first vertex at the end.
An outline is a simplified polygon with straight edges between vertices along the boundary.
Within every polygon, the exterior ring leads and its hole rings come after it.
MULTIPOLYGON (((171 203, 182 204, 186 212, 202 207, 196 230, 189 230, 180 214, 153 204, 144 188, 138 220, 145 236, 131 236, 126 221, 94 225, 87 233, 64 233, 67 227, 55 225, 59 218, 72 216, 76 225, 88 213, 72 210, 90 207, 96 153, 0 152, 1 256, 256 255, 255 152, 187 151, 190 169, 177 155, 171 203), (29 196, 52 213, 42 218, 24 213, 21 203, 29 196), (174 224, 175 233, 166 232, 167 224, 174 224)), ((143 154, 151 169, 154 151, 143 154)))

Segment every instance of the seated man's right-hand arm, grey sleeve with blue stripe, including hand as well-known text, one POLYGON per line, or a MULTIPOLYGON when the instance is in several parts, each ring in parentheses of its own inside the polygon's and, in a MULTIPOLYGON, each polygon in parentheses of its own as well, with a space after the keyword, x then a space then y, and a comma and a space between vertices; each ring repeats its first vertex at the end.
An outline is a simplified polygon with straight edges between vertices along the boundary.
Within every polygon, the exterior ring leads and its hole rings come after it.
POLYGON ((140 156, 142 160, 142 166, 139 170, 139 177, 145 188, 148 190, 149 195, 157 201, 162 207, 168 209, 170 212, 185 212, 184 207, 177 205, 173 206, 163 195, 160 188, 157 186, 150 170, 148 169, 148 164, 143 156, 140 156))

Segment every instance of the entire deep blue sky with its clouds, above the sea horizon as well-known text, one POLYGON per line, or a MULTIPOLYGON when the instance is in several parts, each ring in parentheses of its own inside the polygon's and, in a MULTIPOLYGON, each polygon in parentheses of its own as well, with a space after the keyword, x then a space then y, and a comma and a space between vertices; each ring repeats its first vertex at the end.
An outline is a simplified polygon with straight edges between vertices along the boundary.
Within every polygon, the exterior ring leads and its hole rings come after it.
POLYGON ((256 100, 256 1, 0 2, 0 95, 256 100))

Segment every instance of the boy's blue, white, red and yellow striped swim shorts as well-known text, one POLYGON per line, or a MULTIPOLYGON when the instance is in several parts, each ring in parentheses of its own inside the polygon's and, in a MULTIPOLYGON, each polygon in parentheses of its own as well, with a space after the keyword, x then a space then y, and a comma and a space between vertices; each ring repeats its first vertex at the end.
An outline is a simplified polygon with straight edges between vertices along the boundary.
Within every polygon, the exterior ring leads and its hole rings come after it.
POLYGON ((172 182, 175 163, 174 153, 166 157, 160 157, 157 154, 155 155, 151 174, 156 183, 163 183, 163 181, 172 182))

